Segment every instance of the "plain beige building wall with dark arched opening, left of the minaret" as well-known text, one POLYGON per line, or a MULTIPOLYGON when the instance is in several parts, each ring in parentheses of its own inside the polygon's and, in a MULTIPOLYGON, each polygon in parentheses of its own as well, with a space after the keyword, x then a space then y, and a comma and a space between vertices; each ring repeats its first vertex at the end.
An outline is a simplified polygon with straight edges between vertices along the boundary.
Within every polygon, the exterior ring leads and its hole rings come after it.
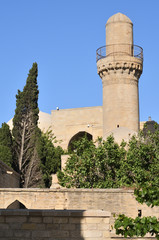
POLYGON ((103 108, 84 107, 51 111, 52 130, 60 146, 68 148, 70 139, 79 132, 87 132, 93 140, 103 135, 103 108))

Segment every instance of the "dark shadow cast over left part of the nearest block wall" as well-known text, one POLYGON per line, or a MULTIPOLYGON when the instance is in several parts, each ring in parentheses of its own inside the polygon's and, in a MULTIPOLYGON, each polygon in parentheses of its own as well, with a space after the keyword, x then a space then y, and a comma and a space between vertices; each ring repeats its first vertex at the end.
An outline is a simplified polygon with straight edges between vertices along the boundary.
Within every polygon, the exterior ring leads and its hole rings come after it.
POLYGON ((21 236, 23 240, 46 238, 84 240, 87 239, 85 235, 91 234, 91 230, 86 227, 87 221, 83 217, 85 212, 83 210, 11 209, 17 203, 18 201, 15 201, 8 209, 0 210, 0 221, 3 219, 1 237, 4 240, 8 240, 8 232, 10 239, 21 236))

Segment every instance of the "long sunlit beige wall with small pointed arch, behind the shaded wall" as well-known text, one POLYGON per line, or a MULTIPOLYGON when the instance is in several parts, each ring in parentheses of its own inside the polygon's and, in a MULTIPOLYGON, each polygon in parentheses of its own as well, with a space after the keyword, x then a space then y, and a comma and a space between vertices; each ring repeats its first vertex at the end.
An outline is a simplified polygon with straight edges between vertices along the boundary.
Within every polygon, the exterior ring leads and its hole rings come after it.
POLYGON ((159 217, 159 207, 139 204, 127 189, 0 189, 0 208, 19 201, 27 209, 104 210, 136 217, 159 217))

